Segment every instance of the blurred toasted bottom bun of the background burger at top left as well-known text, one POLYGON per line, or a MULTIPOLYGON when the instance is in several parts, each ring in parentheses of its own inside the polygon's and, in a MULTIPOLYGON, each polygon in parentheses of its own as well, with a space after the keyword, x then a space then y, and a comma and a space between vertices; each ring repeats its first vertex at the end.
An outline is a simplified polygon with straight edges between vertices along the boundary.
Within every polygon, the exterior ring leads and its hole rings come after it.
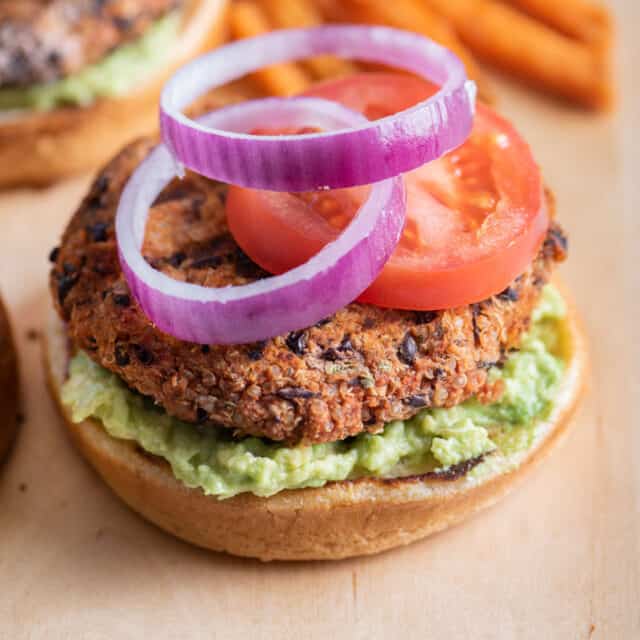
POLYGON ((166 68, 128 96, 84 108, 0 114, 0 188, 45 186, 95 169, 132 139, 153 133, 162 85, 178 66, 222 41, 225 5, 192 0, 166 68))

